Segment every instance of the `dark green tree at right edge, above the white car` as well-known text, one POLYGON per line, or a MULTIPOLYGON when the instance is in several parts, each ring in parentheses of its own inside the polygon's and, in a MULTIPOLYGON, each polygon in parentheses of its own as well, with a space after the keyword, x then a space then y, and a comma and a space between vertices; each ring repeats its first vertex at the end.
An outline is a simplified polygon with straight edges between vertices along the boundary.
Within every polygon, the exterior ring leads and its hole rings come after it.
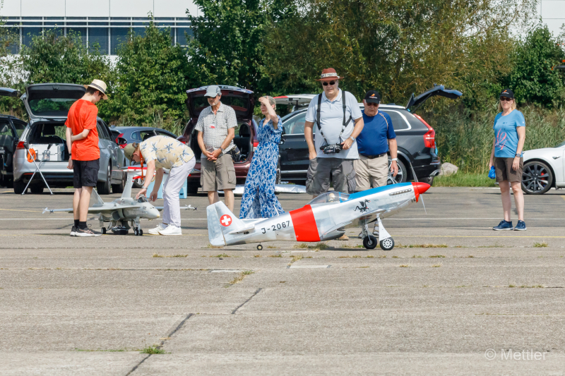
POLYGON ((536 25, 513 51, 513 71, 505 84, 513 90, 518 103, 557 107, 565 100, 565 74, 554 69, 565 61, 565 51, 547 25, 536 25))

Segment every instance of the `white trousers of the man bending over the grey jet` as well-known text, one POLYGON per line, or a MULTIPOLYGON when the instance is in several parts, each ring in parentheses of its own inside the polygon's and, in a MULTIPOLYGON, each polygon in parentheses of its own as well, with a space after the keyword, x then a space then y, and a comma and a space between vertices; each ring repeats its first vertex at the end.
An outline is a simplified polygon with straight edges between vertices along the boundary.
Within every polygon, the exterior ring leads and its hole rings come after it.
POLYGON ((196 158, 193 158, 181 166, 173 167, 169 172, 169 178, 163 186, 163 223, 181 226, 179 192, 195 164, 196 158))

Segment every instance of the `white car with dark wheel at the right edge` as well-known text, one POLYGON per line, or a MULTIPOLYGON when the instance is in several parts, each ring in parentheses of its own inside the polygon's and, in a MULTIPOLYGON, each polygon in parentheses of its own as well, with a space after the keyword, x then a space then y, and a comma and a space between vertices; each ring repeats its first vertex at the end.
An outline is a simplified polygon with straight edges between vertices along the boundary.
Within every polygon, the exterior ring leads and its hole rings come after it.
POLYGON ((565 141, 556 147, 524 152, 522 190, 542 195, 552 187, 565 188, 565 141))

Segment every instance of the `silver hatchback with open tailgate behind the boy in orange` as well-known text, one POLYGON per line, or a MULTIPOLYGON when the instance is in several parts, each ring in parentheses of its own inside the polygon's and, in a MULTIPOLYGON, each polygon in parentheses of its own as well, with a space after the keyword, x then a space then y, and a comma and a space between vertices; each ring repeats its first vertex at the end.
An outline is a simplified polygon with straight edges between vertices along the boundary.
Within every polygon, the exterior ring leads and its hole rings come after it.
MULTIPOLYGON (((85 91, 82 85, 66 83, 42 83, 25 88, 25 94, 20 99, 28 112, 29 123, 14 153, 14 193, 23 193, 36 170, 30 154, 35 156, 37 164, 41 159, 45 159, 41 172, 50 187, 73 185, 73 171, 67 169, 71 154, 66 147, 65 121, 69 108, 77 99, 83 97, 85 91), (26 145, 29 152, 25 148, 26 145)), ((0 95, 16 96, 13 90, 4 88, 0 88, 0 95)), ((100 147, 97 191, 102 195, 111 191, 121 193, 126 183, 126 174, 121 171, 121 167, 125 166, 124 151, 117 144, 117 140, 112 139, 112 133, 100 118, 97 118, 97 131, 100 147)), ((30 184, 30 190, 32 193, 42 193, 44 188, 41 176, 36 174, 30 184)))

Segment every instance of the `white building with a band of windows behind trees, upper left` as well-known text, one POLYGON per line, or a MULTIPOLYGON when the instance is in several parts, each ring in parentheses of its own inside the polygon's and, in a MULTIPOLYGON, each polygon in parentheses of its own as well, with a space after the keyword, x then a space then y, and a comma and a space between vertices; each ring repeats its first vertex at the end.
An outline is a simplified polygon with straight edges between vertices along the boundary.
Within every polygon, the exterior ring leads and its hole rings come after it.
POLYGON ((153 14, 155 24, 170 28, 173 43, 186 44, 191 28, 186 12, 198 16, 198 8, 186 0, 4 0, 0 15, 19 41, 11 46, 18 54, 34 35, 56 30, 81 37, 89 49, 115 55, 130 29, 143 35, 153 14))

